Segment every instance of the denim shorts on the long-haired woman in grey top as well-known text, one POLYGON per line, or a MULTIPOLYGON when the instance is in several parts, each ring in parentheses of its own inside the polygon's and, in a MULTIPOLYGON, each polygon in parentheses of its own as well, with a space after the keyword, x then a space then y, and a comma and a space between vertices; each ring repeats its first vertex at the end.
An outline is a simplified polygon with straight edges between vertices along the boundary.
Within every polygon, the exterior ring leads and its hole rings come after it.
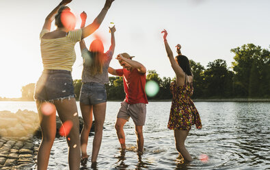
POLYGON ((86 82, 81 86, 80 102, 87 105, 100 104, 107 101, 105 84, 86 82))

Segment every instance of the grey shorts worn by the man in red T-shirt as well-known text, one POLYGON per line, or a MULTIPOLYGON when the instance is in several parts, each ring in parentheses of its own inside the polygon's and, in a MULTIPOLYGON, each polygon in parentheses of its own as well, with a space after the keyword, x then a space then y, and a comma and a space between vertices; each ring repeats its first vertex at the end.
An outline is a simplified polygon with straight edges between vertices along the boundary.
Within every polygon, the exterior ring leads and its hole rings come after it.
POLYGON ((135 125, 144 125, 146 123, 146 104, 126 104, 126 102, 121 103, 117 118, 133 119, 135 125))

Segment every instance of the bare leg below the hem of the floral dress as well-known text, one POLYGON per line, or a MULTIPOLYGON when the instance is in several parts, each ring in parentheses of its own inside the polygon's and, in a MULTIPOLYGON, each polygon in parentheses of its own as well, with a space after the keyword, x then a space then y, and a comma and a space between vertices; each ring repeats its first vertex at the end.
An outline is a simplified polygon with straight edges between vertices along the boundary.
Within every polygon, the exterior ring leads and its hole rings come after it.
POLYGON ((174 130, 174 138, 176 142, 177 151, 180 154, 182 154, 185 160, 191 161, 193 160, 193 158, 191 157, 191 155, 189 154, 189 151, 187 151, 185 147, 185 141, 188 134, 189 134, 189 130, 174 130))

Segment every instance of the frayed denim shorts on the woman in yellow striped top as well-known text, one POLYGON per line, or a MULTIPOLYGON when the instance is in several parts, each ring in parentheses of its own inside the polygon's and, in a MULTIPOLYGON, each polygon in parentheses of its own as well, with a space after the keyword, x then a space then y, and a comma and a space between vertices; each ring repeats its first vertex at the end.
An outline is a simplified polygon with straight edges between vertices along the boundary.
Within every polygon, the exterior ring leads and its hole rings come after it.
POLYGON ((34 98, 54 101, 75 97, 71 71, 44 70, 36 83, 34 98))

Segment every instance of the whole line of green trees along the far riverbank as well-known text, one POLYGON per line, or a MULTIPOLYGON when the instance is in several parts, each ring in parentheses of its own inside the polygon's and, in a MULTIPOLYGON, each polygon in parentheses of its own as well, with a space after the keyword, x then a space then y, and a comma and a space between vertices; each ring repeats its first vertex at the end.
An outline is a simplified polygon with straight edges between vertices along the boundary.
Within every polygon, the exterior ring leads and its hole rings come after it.
MULTIPOLYGON (((253 44, 231 49, 234 62, 228 67, 225 60, 208 62, 206 68, 191 60, 193 71, 194 99, 224 98, 269 98, 270 97, 270 51, 253 44)), ((171 69, 171 68, 168 68, 171 69)), ((147 81, 159 84, 159 92, 152 100, 172 99, 170 83, 175 79, 159 77, 155 70, 149 70, 147 81)), ((74 80, 75 94, 79 99, 81 80, 74 80)), ((34 84, 22 88, 22 98, 33 99, 34 84)), ((109 77, 106 84, 108 100, 122 100, 125 97, 122 77, 109 77)))

